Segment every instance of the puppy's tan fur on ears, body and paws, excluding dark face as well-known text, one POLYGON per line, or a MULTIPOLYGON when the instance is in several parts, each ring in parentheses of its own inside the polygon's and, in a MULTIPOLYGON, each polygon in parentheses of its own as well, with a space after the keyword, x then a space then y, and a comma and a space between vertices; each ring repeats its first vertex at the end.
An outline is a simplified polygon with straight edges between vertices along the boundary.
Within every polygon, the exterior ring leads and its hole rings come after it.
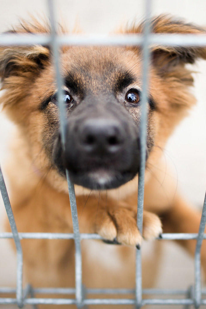
MULTIPOLYGON (((190 24, 173 22, 168 16, 154 19, 152 31, 204 33, 204 30, 190 24)), ((24 22, 13 32, 44 33, 48 32, 48 26, 43 27, 38 22, 33 26, 24 22)), ((142 25, 134 25, 126 32, 142 32, 142 25)), ((146 164, 143 235, 140 235, 136 226, 138 177, 120 189, 107 193, 92 192, 89 197, 90 190, 75 186, 80 232, 99 233, 110 240, 117 237, 117 241, 130 246, 141 244, 142 236, 153 239, 162 232, 162 224, 156 214, 163 218, 163 231, 167 232, 197 232, 200 223, 200 213, 191 210, 182 201, 176 192, 176 184, 165 174, 161 157, 168 137, 195 103, 189 91, 193 79, 185 63, 194 62, 198 57, 205 59, 206 50, 153 46, 152 52, 149 91, 157 102, 157 107, 149 119, 155 144, 146 164)), ((95 55, 99 53, 108 59, 115 58, 124 62, 128 70, 139 76, 141 87, 141 61, 137 61, 141 59, 141 51, 133 47, 63 47, 62 74, 69 70, 69 61, 74 57, 79 57, 84 62, 88 61, 88 57, 95 59, 95 55)), ((94 73, 95 70, 97 68, 94 68, 94 73)), ((44 115, 39 110, 39 104, 57 88, 50 52, 43 46, 1 48, 0 72, 2 89, 6 90, 1 101, 7 115, 19 129, 7 168, 11 205, 18 230, 70 233, 73 228, 67 184, 55 168, 50 168, 49 156, 42 145, 44 115)), ((97 86, 92 85, 94 89, 97 86)), ((55 115, 58 118, 58 111, 55 115)), ((44 133, 49 136, 46 128, 44 133)), ((73 241, 24 240, 22 244, 27 279, 33 286, 74 286, 73 241)), ((182 245, 188 252, 194 253, 195 241, 184 241, 182 245)), ((88 287, 133 287, 135 250, 132 247, 108 247, 103 243, 84 241, 84 284, 88 287), (117 265, 108 269, 109 261, 100 262, 101 256, 92 259, 88 255, 88 246, 93 244, 99 248, 100 255, 101 251, 106 250, 116 254, 117 265)), ((158 260, 158 256, 155 260, 158 260)), ((145 286, 151 286, 155 278, 156 267, 150 268, 155 260, 147 265, 147 257, 145 258, 147 269, 150 270, 144 278, 145 286)), ((205 247, 202 250, 202 261, 206 271, 205 247)))

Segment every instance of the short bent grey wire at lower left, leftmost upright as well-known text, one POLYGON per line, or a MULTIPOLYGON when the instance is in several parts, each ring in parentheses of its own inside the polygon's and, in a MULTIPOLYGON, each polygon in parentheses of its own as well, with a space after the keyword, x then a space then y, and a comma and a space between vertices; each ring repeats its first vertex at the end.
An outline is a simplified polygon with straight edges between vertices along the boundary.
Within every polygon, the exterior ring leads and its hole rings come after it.
POLYGON ((23 288, 22 288, 22 275, 23 275, 23 253, 20 243, 19 234, 16 228, 16 223, 14 219, 14 214, 11 208, 9 196, 6 190, 6 185, 4 182, 2 170, 0 167, 0 190, 6 208, 6 213, 9 219, 9 224, 11 226, 11 231, 14 237, 16 251, 17 251, 17 272, 16 272, 16 300, 19 308, 23 307, 23 288))

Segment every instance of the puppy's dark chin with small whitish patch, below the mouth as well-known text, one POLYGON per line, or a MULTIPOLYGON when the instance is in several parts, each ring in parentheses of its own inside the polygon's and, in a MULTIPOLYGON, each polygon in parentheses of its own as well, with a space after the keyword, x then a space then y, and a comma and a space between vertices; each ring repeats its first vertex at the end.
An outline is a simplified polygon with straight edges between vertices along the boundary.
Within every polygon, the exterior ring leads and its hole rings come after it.
POLYGON ((131 171, 95 170, 81 173, 69 172, 74 184, 93 190, 114 189, 132 180, 136 174, 131 171))

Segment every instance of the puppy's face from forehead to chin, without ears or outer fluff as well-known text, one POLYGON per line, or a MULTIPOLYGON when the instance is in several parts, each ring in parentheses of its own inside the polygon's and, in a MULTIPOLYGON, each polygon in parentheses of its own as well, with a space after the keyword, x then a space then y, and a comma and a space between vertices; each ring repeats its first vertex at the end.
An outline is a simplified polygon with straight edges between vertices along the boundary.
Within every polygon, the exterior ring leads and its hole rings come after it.
MULTIPOLYGON (((135 56, 131 51, 109 48, 72 48, 62 56, 67 108, 65 151, 58 119, 55 126, 51 121, 44 126, 44 144, 58 171, 63 175, 68 168, 76 184, 114 188, 138 173, 141 80, 140 70, 136 74, 129 71, 129 66, 139 62, 133 57, 128 65, 131 56, 135 56), (53 132, 49 141, 48 129, 53 132)), ((45 98, 42 110, 47 119, 58 113, 56 93, 45 98)), ((152 110, 151 99, 149 115, 152 110)), ((152 146, 153 132, 148 123, 148 153, 152 146)))

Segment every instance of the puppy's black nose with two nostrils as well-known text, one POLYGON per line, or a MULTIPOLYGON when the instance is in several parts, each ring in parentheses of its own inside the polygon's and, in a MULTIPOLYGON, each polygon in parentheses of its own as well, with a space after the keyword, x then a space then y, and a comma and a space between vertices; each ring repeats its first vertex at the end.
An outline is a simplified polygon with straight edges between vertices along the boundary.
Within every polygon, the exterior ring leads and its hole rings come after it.
POLYGON ((116 153, 124 146, 124 141, 124 130, 113 119, 87 119, 79 129, 79 144, 87 153, 116 153))

